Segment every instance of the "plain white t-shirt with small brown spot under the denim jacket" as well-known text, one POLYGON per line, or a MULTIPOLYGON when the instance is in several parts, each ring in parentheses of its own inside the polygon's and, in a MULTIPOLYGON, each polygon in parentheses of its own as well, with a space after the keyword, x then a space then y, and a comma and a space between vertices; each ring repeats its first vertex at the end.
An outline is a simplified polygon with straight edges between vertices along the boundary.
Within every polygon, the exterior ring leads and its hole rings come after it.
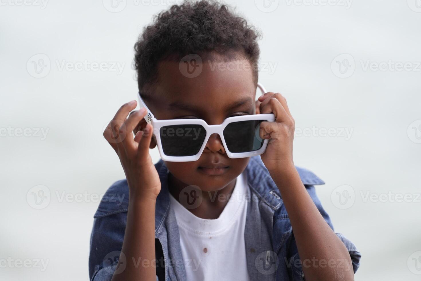
POLYGON ((243 172, 217 219, 196 217, 170 194, 187 281, 250 280, 244 241, 249 193, 243 172))

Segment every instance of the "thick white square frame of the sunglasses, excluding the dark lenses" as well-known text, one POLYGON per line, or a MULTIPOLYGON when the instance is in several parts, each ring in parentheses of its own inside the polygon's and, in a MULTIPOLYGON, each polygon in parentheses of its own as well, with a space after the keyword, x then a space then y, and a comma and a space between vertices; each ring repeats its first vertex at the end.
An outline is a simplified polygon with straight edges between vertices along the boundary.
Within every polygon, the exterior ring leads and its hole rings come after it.
MULTIPOLYGON (((262 91, 262 93, 266 93, 265 88, 257 83, 258 88, 262 91)), ((147 123, 152 124, 153 127, 153 135, 155 136, 155 140, 157 142, 158 150, 161 155, 161 159, 163 161, 169 161, 169 162, 189 162, 189 161, 197 161, 199 160, 200 156, 203 153, 203 150, 205 150, 206 144, 208 143, 209 137, 212 134, 218 134, 221 138, 222 145, 224 146, 226 155, 229 158, 245 158, 245 157, 252 157, 256 155, 260 155, 264 153, 266 150, 266 146, 269 142, 269 139, 265 139, 263 142, 263 145, 260 149, 254 150, 254 151, 248 151, 248 152, 242 152, 242 153, 232 153, 229 151, 228 147, 226 146, 225 138, 224 138, 224 129, 229 123, 233 122, 239 122, 239 121, 249 121, 249 120, 266 120, 269 122, 273 122, 275 120, 275 115, 270 114, 250 114, 250 115, 242 115, 242 116, 234 116, 229 117, 224 120, 219 125, 208 125, 205 120, 203 119, 168 119, 168 120, 157 120, 155 116, 152 114, 152 112, 149 110, 149 108, 146 106, 145 102, 140 96, 140 92, 137 94, 137 97, 139 99, 139 107, 140 109, 144 107, 147 111, 147 114, 145 115, 144 119, 147 123), (200 147, 199 152, 196 155, 189 155, 189 156, 169 156, 165 155, 162 143, 161 143, 161 136, 160 136, 160 129, 164 126, 171 126, 171 125, 201 125, 206 130, 206 136, 203 140, 202 147, 200 147)))

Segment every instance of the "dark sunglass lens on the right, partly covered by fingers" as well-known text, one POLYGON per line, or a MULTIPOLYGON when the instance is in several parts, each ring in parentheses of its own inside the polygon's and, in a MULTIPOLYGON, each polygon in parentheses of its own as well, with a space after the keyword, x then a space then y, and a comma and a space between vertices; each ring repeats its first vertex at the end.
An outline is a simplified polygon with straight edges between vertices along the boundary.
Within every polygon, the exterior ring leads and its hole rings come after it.
POLYGON ((249 120, 229 123, 224 129, 226 146, 231 153, 259 150, 264 142, 259 136, 260 123, 265 120, 249 120))

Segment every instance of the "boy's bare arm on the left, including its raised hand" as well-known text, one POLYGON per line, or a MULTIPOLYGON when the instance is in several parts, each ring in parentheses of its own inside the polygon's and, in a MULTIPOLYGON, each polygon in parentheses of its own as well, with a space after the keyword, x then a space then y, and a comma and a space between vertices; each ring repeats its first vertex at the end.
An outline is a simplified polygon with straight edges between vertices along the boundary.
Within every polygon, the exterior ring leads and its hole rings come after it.
POLYGON ((136 101, 124 104, 104 131, 105 139, 120 158, 129 187, 123 247, 112 281, 156 280, 155 202, 161 183, 149 155, 152 125, 143 119, 146 110, 142 108, 127 118, 135 108, 136 101), (133 138, 132 131, 139 122, 144 130, 133 138))

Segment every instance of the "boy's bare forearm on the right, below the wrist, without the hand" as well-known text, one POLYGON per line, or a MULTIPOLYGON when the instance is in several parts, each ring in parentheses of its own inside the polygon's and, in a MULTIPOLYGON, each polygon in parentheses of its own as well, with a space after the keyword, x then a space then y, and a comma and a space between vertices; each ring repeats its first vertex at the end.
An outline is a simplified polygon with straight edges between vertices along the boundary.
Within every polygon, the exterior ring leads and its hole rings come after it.
POLYGON ((354 280, 348 250, 314 205, 295 167, 289 169, 271 176, 288 212, 306 281, 354 280))

